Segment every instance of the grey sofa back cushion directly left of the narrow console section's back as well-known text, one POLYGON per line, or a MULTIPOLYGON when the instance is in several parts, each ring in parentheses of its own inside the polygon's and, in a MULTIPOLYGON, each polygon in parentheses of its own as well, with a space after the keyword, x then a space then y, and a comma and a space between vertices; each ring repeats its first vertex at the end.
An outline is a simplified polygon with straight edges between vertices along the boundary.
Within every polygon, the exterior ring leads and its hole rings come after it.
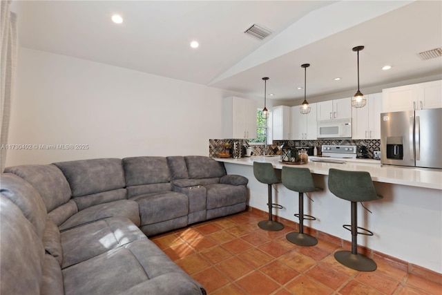
POLYGON ((127 197, 171 191, 171 172, 164 157, 123 159, 127 197))

